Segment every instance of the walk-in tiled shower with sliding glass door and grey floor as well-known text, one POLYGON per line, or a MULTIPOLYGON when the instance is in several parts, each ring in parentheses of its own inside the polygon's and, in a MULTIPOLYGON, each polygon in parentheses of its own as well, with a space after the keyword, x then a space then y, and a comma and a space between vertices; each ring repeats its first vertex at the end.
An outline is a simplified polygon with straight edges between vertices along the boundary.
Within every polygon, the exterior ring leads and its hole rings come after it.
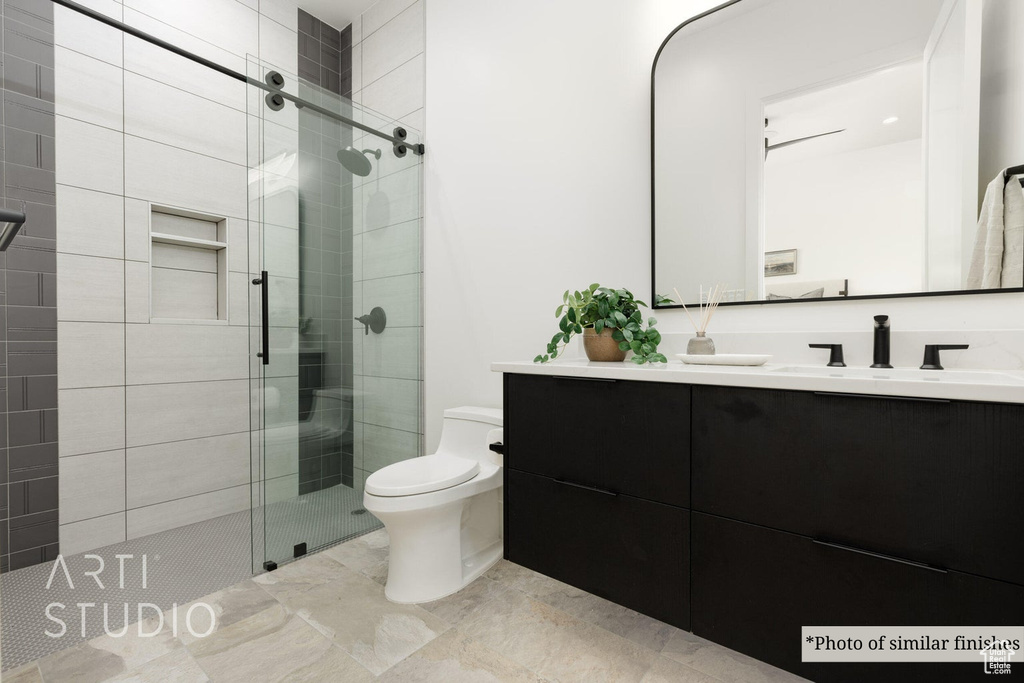
MULTIPOLYGON (((378 528, 367 476, 422 453, 418 131, 298 73, 295 34, 263 16, 256 40, 215 45, 171 27, 187 24, 172 3, 151 8, 164 23, 127 3, 52 6, 38 28, 5 19, 54 78, 49 102, 38 80, 5 95, 8 208, 28 201, 0 263, 7 383, 54 396, 6 407, 4 670, 103 633, 83 611, 48 638, 47 603, 166 609, 378 528), (14 144, 23 133, 38 139, 14 144), (49 176, 12 166, 47 158, 49 176), (41 350, 23 362, 28 344, 41 350), (120 592, 47 589, 58 553, 75 577, 89 557, 148 556, 145 591, 130 575, 120 592)), ((6 56, 11 91, 25 55, 6 56)))

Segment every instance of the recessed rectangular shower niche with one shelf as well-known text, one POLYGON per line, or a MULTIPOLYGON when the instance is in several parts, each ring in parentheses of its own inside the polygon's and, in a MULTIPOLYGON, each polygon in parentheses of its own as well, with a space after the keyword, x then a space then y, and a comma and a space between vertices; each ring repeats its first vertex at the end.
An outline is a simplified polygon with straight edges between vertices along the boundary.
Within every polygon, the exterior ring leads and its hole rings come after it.
POLYGON ((150 311, 154 323, 227 324, 227 219, 153 205, 150 311))

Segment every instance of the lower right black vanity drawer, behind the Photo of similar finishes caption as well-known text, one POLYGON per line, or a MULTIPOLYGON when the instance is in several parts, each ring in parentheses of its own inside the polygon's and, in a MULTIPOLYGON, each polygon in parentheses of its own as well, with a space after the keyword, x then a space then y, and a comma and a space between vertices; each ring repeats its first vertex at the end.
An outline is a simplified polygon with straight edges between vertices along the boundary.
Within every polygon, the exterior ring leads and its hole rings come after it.
POLYGON ((1024 613, 1020 586, 714 515, 691 519, 693 633, 819 683, 970 681, 983 672, 980 663, 803 664, 801 627, 1018 626, 1024 613))

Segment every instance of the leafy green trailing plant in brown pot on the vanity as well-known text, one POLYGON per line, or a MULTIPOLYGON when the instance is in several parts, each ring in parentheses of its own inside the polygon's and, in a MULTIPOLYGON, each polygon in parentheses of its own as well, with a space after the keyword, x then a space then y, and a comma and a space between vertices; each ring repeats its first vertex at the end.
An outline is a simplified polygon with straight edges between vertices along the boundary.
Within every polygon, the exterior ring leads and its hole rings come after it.
MULTIPOLYGON (((672 303, 658 297, 658 303, 672 303)), ((643 325, 640 307, 647 304, 633 297, 626 289, 613 290, 591 285, 583 292, 565 291, 562 303, 555 309, 558 334, 548 343, 547 353, 538 355, 534 362, 548 362, 562 352, 575 335, 583 335, 583 347, 591 360, 622 361, 633 351, 633 362, 668 362, 657 352, 662 335, 653 317, 643 325)))

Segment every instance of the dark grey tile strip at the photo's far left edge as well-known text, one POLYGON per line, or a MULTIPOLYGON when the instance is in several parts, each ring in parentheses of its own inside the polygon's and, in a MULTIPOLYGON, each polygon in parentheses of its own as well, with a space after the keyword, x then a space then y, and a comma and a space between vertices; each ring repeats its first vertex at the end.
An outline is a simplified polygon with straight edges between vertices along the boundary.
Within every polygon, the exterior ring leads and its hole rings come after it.
POLYGON ((53 6, 3 1, 3 206, 28 220, 0 255, 0 571, 57 555, 53 6), (2 315, 2 313, 0 313, 2 315))

